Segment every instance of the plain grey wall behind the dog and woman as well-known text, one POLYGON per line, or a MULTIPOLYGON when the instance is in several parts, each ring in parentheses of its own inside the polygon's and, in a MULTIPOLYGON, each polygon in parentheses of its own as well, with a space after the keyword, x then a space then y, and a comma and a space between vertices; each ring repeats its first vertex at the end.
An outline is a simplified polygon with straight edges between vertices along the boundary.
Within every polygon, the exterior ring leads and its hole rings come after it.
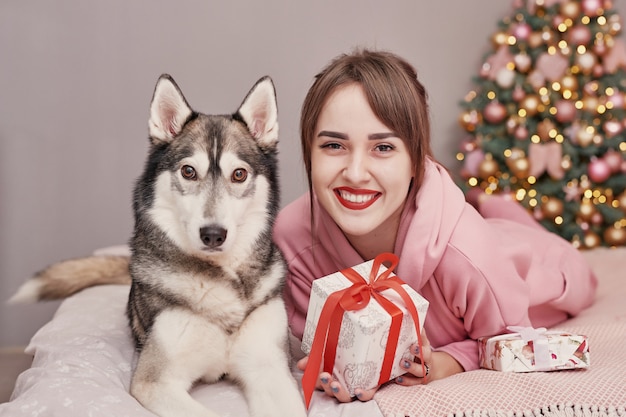
MULTIPOLYGON (((287 203, 305 189, 304 94, 329 59, 353 46, 390 49, 417 66, 431 97, 435 154, 454 168, 458 101, 510 10, 502 0, 2 0, 0 299, 52 262, 128 240, 161 73, 193 107, 217 113, 234 111, 262 75, 273 77, 287 203)), ((1 305, 0 347, 26 344, 57 306, 1 305)))

